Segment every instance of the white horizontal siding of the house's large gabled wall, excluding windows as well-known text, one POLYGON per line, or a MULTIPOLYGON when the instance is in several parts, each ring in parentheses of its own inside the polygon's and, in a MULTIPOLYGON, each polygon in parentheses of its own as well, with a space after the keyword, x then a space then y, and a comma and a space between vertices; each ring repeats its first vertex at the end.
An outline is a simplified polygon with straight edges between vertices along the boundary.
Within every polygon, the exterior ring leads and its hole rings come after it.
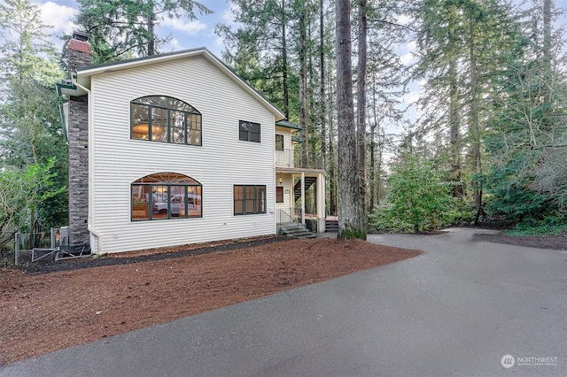
POLYGON ((95 251, 276 233, 274 115, 205 58, 93 76, 91 101, 90 226, 102 237, 103 249, 95 251), (202 146, 130 140, 130 101, 158 95, 181 99, 201 112, 202 146), (239 119, 260 123, 260 143, 238 140, 239 119), (130 184, 159 172, 183 173, 203 185, 202 218, 130 220, 130 184), (268 213, 234 216, 233 184, 266 185, 268 213))

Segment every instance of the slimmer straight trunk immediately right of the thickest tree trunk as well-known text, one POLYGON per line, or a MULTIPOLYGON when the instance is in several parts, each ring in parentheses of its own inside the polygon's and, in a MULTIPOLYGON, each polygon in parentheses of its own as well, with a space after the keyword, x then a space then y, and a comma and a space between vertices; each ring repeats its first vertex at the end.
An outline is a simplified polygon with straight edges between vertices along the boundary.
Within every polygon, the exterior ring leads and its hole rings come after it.
MULTIPOLYGON (((359 0, 358 23, 358 81, 356 96, 356 134, 358 142, 358 173, 362 200, 362 219, 366 219, 366 52, 367 52, 367 16, 366 0, 359 0)), ((366 220, 365 220, 366 222, 366 220)))

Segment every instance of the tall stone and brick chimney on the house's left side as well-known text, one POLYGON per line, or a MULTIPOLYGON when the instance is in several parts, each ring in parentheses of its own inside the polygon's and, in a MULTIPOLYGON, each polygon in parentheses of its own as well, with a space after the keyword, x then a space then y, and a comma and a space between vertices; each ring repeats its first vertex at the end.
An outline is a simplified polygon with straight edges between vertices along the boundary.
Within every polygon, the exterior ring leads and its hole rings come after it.
MULTIPOLYGON (((88 36, 75 32, 68 45, 69 79, 92 64, 88 36)), ((69 244, 89 245, 89 98, 69 97, 69 244)))

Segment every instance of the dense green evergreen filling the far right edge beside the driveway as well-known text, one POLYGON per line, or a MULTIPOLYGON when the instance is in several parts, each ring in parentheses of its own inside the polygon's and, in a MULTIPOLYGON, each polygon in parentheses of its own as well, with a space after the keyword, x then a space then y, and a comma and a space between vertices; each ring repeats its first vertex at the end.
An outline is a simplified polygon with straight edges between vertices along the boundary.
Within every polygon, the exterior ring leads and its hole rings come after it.
POLYGON ((490 208, 515 220, 543 219, 567 205, 565 41, 550 13, 548 1, 532 8, 495 81, 500 100, 486 139, 490 208))

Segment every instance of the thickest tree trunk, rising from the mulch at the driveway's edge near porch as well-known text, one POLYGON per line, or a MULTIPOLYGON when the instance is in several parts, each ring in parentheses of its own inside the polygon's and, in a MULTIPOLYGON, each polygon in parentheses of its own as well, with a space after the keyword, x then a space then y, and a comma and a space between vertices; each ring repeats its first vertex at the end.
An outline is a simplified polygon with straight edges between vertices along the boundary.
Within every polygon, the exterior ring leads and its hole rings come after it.
POLYGON ((356 159, 350 2, 336 2, 338 108, 338 237, 366 239, 356 159))

